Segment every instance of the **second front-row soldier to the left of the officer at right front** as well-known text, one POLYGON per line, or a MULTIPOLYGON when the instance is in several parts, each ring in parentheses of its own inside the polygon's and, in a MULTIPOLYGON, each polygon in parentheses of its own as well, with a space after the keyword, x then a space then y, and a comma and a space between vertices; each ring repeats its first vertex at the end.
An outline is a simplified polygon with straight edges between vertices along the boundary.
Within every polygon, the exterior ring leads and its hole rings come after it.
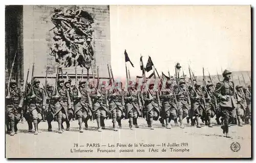
MULTIPOLYGON (((190 117, 196 117, 197 127, 201 128, 199 124, 199 117, 203 115, 204 111, 204 102, 203 102, 203 91, 198 83, 195 84, 195 90, 191 91, 191 110, 190 117), (196 92, 195 92, 196 91, 196 92)), ((191 122, 192 125, 195 124, 195 120, 191 122)))

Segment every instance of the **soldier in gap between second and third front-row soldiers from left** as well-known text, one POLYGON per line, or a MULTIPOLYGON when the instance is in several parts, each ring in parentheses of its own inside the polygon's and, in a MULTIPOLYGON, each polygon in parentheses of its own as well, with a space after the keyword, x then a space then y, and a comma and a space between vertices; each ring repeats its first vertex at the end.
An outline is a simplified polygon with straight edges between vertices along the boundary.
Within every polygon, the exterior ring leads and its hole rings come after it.
POLYGON ((46 98, 46 120, 48 123, 48 131, 52 131, 52 121, 54 119, 54 100, 52 99, 52 93, 53 93, 53 86, 50 84, 47 84, 46 91, 44 91, 44 96, 46 98))

